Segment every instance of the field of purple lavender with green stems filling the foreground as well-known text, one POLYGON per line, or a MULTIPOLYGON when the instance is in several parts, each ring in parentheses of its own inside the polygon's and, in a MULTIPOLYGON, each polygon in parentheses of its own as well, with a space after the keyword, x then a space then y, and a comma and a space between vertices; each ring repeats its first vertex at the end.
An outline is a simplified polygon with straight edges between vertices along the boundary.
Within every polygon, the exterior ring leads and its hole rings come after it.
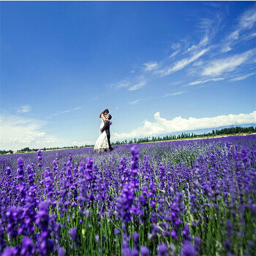
POLYGON ((0 157, 1 255, 255 255, 256 135, 0 157))

